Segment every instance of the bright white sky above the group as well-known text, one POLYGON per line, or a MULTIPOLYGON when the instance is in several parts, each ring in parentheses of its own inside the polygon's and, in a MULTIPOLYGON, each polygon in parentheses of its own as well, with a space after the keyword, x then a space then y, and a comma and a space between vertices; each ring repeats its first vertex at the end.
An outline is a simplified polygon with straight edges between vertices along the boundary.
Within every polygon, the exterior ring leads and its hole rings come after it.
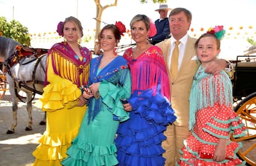
MULTIPOLYGON (((109 2, 114 0, 101 0, 103 6, 109 2)), ((169 8, 185 7, 192 12, 190 28, 194 28, 194 31, 189 31, 192 36, 198 37, 198 34, 207 31, 210 26, 224 25, 226 33, 231 33, 231 36, 227 35, 228 38, 241 38, 233 40, 236 45, 241 45, 240 42, 246 41, 248 36, 256 40, 255 0, 168 0, 166 4, 169 8), (251 28, 248 28, 249 26, 251 28), (201 28, 203 31, 200 31, 201 28)), ((121 21, 129 29, 130 20, 136 14, 145 14, 151 20, 156 20, 159 14, 155 9, 158 9, 159 5, 153 4, 151 0, 146 4, 140 4, 139 0, 118 0, 117 6, 108 7, 103 11, 101 21, 121 21)), ((93 0, 0 0, 0 16, 6 17, 7 21, 19 21, 31 34, 54 32, 58 23, 71 15, 82 22, 84 33, 93 32, 96 22, 93 19, 96 17, 96 5, 93 0)), ((229 43, 231 44, 230 41, 229 43)))

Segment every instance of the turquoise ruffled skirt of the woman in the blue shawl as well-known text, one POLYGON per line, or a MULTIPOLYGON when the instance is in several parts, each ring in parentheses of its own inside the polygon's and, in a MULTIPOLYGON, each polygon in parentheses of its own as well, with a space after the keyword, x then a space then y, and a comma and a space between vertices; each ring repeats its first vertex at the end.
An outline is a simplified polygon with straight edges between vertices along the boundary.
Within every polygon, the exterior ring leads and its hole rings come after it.
POLYGON ((101 110, 88 124, 87 112, 79 135, 67 149, 68 157, 62 161, 62 165, 117 165, 114 138, 118 125, 119 121, 113 121, 113 113, 106 109, 101 110))

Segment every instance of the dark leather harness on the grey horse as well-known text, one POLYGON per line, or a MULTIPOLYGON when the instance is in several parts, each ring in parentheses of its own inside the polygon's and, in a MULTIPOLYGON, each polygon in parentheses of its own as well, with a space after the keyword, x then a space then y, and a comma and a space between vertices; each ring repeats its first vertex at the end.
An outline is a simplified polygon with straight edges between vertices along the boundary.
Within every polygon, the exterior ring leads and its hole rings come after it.
POLYGON ((7 58, 7 60, 4 61, 4 66, 7 67, 8 74, 14 79, 15 95, 23 103, 30 103, 35 98, 36 93, 38 93, 40 95, 43 94, 43 92, 36 90, 35 84, 43 85, 45 82, 35 80, 35 72, 36 72, 36 68, 38 67, 38 65, 41 61, 41 58, 45 57, 47 55, 47 52, 48 52, 48 49, 33 49, 30 47, 22 47, 22 45, 17 45, 16 50, 11 55, 11 57, 7 58), (27 59, 27 58, 29 58, 29 59, 27 59), (32 63, 33 61, 35 61, 35 64, 34 64, 34 68, 32 71, 32 80, 20 81, 19 79, 14 78, 12 76, 12 73, 11 73, 12 66, 14 66, 17 63, 19 63, 20 65, 27 65, 28 63, 32 63), (27 83, 29 83, 29 82, 33 83, 32 84, 33 88, 27 85, 27 83), (19 95, 18 90, 17 90, 17 83, 19 85, 19 88, 23 87, 32 92, 32 99, 30 101, 27 101, 27 102, 24 101, 22 99, 23 97, 21 97, 19 95))

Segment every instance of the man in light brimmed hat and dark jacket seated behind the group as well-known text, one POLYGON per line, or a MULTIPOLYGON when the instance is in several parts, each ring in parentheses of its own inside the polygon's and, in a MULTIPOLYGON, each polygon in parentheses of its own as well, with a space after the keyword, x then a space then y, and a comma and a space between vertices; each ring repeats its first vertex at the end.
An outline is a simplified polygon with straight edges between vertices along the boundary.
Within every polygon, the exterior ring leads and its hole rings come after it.
POLYGON ((169 38, 170 29, 169 29, 169 20, 167 17, 168 11, 171 10, 168 8, 167 4, 161 4, 159 9, 155 11, 160 14, 160 18, 155 21, 155 26, 157 33, 153 38, 151 38, 151 43, 155 45, 158 42, 164 41, 164 39, 169 38))

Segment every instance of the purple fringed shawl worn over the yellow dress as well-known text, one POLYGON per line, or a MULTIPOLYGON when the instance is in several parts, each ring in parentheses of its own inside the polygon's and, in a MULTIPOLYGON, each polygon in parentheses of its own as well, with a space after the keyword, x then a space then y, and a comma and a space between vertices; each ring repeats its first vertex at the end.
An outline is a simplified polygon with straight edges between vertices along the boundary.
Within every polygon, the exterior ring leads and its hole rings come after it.
MULTIPOLYGON (((82 60, 76 55, 74 50, 67 44, 67 42, 56 43, 48 51, 48 58, 51 57, 54 73, 61 77, 69 79, 69 81, 77 84, 78 87, 81 85, 80 74, 83 74, 84 80, 82 85, 88 84, 89 66, 92 55, 90 50, 86 47, 80 47, 80 53, 82 60), (49 56, 54 55, 54 56, 49 56)), ((48 60, 46 63, 46 73, 48 68, 48 60)), ((48 84, 47 74, 45 76, 45 85, 48 84)))

